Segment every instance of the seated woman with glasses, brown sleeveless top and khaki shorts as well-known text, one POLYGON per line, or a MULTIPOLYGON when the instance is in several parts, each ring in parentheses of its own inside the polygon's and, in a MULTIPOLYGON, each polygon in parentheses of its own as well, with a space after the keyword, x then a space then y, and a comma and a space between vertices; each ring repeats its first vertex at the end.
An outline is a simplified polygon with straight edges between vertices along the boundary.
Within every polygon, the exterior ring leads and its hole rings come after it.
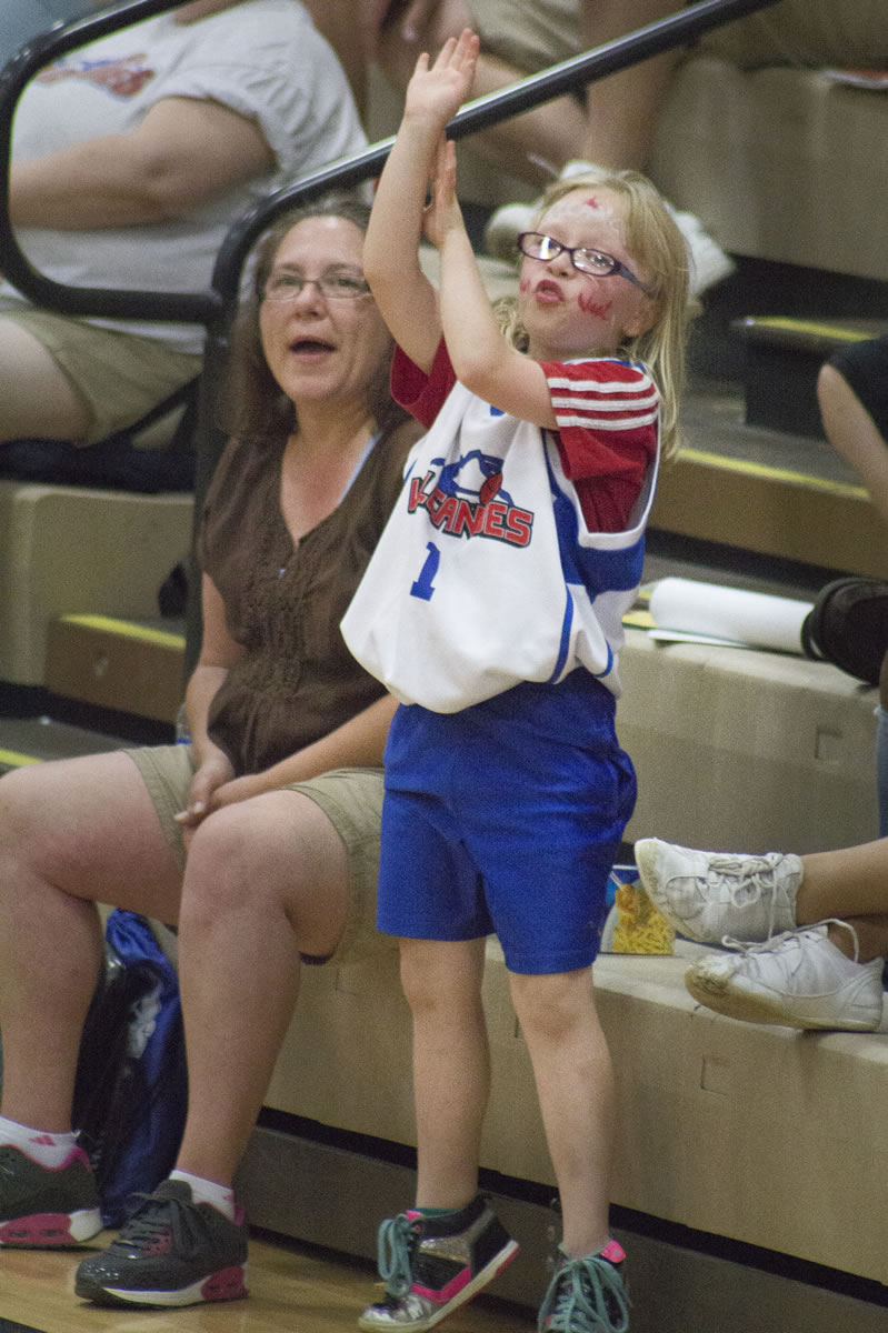
POLYGON ((391 339, 361 267, 367 208, 321 200, 264 240, 240 320, 235 433, 199 543, 204 639, 191 745, 0 782, 0 1245, 101 1229, 71 1126, 101 962, 96 904, 179 926, 189 1109, 176 1169, 77 1294, 188 1305, 245 1294, 232 1177, 304 962, 376 940, 393 701, 339 621, 420 428, 388 395, 391 339))

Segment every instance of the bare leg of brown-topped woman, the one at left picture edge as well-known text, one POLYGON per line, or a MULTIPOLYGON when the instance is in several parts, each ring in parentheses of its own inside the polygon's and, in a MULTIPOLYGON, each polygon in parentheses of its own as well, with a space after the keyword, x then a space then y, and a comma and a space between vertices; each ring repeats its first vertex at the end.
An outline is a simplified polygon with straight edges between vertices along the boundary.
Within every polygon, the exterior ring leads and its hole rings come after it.
POLYGON ((3 1114, 71 1129, 83 1021, 101 964, 96 902, 175 921, 179 870, 123 753, 0 780, 3 1114))

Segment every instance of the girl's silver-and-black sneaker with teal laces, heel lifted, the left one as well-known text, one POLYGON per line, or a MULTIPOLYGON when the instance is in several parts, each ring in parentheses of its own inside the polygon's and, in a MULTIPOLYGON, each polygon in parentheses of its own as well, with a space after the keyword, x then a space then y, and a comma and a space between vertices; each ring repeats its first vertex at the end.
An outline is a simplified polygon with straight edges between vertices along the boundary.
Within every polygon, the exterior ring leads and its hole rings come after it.
POLYGON ((476 1296, 517 1254, 487 1200, 443 1217, 409 1210, 387 1218, 379 1230, 379 1272, 385 1297, 369 1305, 357 1326, 421 1333, 476 1296))

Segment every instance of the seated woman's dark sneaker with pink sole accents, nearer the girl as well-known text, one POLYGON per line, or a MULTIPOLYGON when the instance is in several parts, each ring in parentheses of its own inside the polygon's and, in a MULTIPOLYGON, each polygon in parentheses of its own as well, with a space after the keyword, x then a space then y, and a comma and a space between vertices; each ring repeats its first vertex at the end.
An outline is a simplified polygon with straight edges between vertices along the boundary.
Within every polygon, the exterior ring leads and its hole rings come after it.
POLYGON ((191 1185, 165 1180, 108 1249, 77 1269, 75 1293, 96 1305, 177 1306, 247 1296, 247 1221, 195 1204, 191 1185))

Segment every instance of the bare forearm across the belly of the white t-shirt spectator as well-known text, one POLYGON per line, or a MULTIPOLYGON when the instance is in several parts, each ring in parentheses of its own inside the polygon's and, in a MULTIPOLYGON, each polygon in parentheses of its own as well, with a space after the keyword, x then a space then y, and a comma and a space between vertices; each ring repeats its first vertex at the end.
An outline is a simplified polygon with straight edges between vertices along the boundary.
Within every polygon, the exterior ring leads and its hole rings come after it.
POLYGON ((15 163, 13 227, 92 231, 163 223, 267 172, 261 129, 221 103, 164 97, 131 135, 15 163))

